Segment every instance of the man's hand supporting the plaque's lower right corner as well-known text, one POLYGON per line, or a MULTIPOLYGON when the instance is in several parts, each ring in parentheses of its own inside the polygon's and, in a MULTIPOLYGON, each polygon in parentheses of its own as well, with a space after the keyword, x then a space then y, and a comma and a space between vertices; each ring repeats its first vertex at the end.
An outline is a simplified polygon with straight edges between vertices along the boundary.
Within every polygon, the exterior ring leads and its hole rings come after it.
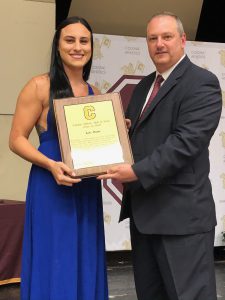
POLYGON ((138 178, 135 175, 131 165, 121 164, 107 170, 107 174, 100 175, 97 179, 116 179, 120 182, 136 181, 138 178))

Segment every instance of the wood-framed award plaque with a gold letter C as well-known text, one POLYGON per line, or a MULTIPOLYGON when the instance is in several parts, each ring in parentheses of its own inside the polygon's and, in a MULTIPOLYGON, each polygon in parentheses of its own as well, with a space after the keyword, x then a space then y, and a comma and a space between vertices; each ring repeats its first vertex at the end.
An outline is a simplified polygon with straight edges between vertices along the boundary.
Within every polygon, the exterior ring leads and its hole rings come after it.
POLYGON ((133 163, 119 93, 53 100, 63 162, 76 177, 133 163))

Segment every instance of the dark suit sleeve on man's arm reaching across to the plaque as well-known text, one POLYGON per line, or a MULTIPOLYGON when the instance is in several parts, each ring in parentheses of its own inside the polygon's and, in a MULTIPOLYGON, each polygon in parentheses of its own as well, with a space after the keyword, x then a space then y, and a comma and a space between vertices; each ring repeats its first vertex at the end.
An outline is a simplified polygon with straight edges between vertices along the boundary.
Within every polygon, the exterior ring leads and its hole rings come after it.
POLYGON ((175 127, 166 141, 132 166, 145 190, 176 175, 208 148, 221 109, 218 79, 211 73, 200 77, 193 90, 183 97, 175 127))

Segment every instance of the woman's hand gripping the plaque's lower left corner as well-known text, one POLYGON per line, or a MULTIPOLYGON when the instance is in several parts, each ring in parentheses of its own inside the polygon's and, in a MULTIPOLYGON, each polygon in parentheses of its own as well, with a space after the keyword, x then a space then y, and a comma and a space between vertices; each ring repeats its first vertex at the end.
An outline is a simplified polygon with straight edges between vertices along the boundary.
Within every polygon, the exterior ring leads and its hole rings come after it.
POLYGON ((75 172, 61 161, 50 160, 48 169, 58 185, 72 186, 81 181, 80 178, 74 178, 75 172))

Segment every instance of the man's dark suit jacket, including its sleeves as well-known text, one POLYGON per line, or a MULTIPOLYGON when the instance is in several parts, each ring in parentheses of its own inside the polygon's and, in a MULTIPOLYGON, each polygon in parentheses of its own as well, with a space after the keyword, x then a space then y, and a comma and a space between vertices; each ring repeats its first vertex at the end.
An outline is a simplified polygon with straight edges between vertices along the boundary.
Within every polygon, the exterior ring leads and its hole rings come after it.
POLYGON ((147 234, 193 234, 216 225, 208 146, 218 125, 218 79, 186 56, 141 109, 155 73, 135 88, 126 117, 138 181, 125 185, 120 220, 130 216, 147 234))

